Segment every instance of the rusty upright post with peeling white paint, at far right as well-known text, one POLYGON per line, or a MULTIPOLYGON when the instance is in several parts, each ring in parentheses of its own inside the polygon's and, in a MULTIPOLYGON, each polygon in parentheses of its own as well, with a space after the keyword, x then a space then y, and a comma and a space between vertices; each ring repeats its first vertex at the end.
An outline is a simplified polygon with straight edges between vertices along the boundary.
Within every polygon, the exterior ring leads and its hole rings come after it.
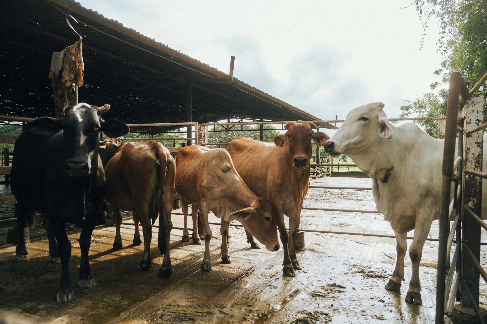
MULTIPOLYGON (((462 114, 464 118, 464 130, 480 125, 484 119, 483 112, 484 95, 472 95, 466 102, 462 114)), ((482 172, 482 137, 483 132, 479 131, 465 136, 463 151, 464 170, 475 170, 482 172)), ((475 214, 481 215, 482 211, 482 178, 464 174, 463 180, 463 205, 468 206, 475 214)), ((469 216, 462 214, 462 253, 461 253, 461 278, 467 283, 468 290, 473 296, 474 303, 479 305, 479 283, 480 273, 473 266, 465 251, 466 246, 472 251, 477 260, 480 260, 480 224, 469 216)), ((460 289, 461 306, 471 308, 473 305, 468 298, 468 293, 460 289)))

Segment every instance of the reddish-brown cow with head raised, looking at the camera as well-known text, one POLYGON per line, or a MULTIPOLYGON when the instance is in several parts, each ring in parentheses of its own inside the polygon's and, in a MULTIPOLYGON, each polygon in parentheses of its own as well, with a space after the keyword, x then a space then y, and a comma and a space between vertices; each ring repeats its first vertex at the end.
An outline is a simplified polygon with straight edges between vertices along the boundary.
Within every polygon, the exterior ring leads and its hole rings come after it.
POLYGON ((274 137, 276 145, 240 137, 230 142, 227 151, 248 188, 272 204, 284 247, 282 272, 295 276, 294 270, 301 267, 294 240, 309 188, 311 139, 323 146, 329 137, 323 132, 314 132, 316 125, 311 121, 290 122, 285 128, 285 134, 274 137), (289 217, 289 234, 283 214, 289 217))

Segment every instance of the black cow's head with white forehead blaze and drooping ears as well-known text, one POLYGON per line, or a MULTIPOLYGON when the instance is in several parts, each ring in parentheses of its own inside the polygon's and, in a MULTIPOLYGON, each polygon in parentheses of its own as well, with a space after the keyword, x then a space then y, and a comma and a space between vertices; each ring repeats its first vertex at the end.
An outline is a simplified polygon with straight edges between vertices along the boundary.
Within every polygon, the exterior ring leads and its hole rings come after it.
POLYGON ((63 131, 66 148, 64 171, 70 177, 85 177, 91 174, 92 162, 97 154, 98 134, 103 131, 109 137, 118 137, 129 132, 129 126, 117 119, 105 121, 101 115, 110 109, 110 105, 96 107, 87 103, 78 103, 64 110, 64 115, 57 119, 43 117, 37 123, 46 131, 63 131))

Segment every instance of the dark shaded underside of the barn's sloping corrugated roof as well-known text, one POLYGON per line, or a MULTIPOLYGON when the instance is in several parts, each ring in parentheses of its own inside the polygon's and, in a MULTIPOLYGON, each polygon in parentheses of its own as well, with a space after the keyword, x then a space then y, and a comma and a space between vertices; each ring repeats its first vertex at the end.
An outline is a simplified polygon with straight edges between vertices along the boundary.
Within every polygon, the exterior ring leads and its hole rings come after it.
MULTIPOLYGON (((79 102, 111 104, 107 118, 135 123, 318 119, 73 0, 2 4, 0 114, 54 115, 48 79, 52 52, 79 39, 67 20, 83 37, 85 82, 79 102)), ((164 130, 169 128, 157 132, 164 130)))

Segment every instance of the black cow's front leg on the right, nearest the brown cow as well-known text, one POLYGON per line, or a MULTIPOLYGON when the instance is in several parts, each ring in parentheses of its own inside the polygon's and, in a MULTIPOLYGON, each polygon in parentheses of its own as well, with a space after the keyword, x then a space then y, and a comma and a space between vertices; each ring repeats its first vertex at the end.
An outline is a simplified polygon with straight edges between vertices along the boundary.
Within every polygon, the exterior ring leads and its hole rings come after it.
POLYGON ((88 215, 86 222, 83 224, 81 234, 79 235, 79 248, 81 249, 81 263, 79 265, 79 280, 78 285, 81 288, 94 288, 93 275, 90 269, 90 261, 88 255, 90 253, 91 236, 93 234, 94 223, 98 212, 88 215))

